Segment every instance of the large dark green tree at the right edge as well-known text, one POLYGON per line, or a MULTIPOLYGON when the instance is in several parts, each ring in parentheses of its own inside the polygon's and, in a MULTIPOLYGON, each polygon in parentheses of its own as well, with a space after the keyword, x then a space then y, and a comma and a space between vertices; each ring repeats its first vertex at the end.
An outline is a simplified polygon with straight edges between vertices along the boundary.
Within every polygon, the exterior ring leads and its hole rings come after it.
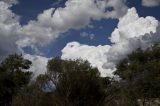
POLYGON ((137 49, 117 65, 115 74, 121 80, 126 96, 134 105, 152 106, 160 98, 160 47, 154 45, 146 50, 137 49))

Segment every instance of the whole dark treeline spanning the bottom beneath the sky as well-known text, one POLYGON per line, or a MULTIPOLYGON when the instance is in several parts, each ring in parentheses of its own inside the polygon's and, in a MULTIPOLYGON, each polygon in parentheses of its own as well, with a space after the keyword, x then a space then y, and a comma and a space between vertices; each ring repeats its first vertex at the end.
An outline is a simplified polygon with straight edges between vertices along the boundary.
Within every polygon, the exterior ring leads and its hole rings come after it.
POLYGON ((137 49, 101 77, 83 60, 48 61, 31 80, 31 61, 10 55, 0 64, 0 106, 160 106, 160 46, 137 49))

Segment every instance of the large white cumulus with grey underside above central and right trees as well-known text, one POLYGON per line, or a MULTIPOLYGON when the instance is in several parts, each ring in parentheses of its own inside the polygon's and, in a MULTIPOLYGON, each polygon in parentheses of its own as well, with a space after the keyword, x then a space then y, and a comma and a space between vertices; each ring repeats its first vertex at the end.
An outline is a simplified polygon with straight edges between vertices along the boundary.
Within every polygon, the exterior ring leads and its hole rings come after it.
POLYGON ((91 65, 98 67, 102 76, 112 76, 116 64, 132 51, 160 42, 160 25, 154 17, 139 17, 136 9, 131 8, 119 19, 110 40, 111 46, 100 47, 68 43, 62 50, 62 59, 88 60, 91 65))

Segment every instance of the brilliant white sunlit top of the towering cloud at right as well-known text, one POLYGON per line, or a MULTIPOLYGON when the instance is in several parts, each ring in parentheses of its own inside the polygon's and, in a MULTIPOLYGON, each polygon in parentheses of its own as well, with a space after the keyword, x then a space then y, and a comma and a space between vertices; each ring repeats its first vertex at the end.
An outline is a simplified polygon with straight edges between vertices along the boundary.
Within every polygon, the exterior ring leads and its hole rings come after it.
POLYGON ((155 33, 158 21, 151 16, 139 17, 136 9, 131 8, 128 13, 119 20, 117 28, 112 32, 111 42, 119 43, 129 38, 140 37, 146 33, 155 33))

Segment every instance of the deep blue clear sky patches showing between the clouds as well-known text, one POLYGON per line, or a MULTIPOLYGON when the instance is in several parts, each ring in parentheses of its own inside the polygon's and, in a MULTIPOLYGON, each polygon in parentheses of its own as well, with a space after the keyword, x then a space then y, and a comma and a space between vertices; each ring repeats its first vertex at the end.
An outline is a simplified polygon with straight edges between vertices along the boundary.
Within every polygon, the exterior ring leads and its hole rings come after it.
MULTIPOLYGON (((15 14, 21 16, 20 23, 27 24, 30 20, 37 20, 37 15, 44 10, 51 7, 58 8, 64 7, 66 0, 19 0, 19 4, 14 5, 11 9, 15 14)), ((144 7, 141 5, 141 0, 128 0, 126 2, 128 7, 136 7, 140 16, 154 16, 160 20, 160 6, 144 7)), ((88 45, 105 45, 111 44, 108 37, 111 35, 114 28, 117 26, 118 19, 108 19, 100 21, 91 21, 90 25, 94 28, 85 27, 79 30, 69 30, 62 33, 63 36, 59 37, 55 42, 50 43, 47 47, 41 48, 44 55, 47 57, 55 57, 61 55, 63 47, 71 41, 78 41, 82 44, 88 45), (87 32, 94 34, 95 37, 91 40, 89 37, 81 37, 80 33, 87 32)), ((33 53, 29 48, 25 49, 28 53, 33 53)))

